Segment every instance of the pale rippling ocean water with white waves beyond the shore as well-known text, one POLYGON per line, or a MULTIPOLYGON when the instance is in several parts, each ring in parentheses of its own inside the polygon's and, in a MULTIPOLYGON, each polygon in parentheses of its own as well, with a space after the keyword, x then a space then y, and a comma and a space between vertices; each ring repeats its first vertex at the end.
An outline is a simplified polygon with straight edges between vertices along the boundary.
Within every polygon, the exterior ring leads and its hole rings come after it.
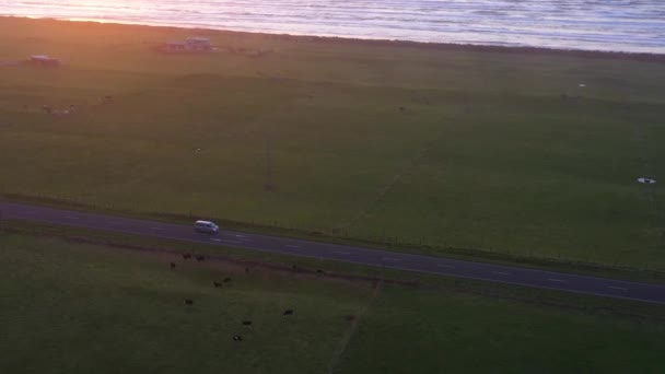
POLYGON ((665 0, 0 0, 0 15, 665 54, 665 0))

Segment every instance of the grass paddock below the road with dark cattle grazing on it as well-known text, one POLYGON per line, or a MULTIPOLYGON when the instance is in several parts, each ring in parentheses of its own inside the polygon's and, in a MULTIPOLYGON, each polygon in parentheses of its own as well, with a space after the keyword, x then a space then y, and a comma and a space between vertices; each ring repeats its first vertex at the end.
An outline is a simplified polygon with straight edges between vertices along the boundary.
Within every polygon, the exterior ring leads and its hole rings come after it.
POLYGON ((324 372, 370 292, 179 260, 172 271, 171 258, 62 242, 1 245, 3 373, 324 372), (225 277, 233 285, 213 288, 225 277))

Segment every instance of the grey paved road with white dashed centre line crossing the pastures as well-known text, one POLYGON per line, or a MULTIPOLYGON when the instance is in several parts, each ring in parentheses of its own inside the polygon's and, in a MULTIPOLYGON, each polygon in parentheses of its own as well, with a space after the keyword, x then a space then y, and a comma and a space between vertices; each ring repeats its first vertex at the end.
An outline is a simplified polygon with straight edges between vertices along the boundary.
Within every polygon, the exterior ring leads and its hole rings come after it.
POLYGON ((33 222, 97 229, 292 256, 331 259, 373 267, 410 270, 447 277, 480 279, 539 289, 553 289, 665 304, 665 285, 657 284, 460 261, 440 257, 366 249, 230 231, 223 231, 218 235, 205 235, 195 233, 192 227, 188 225, 42 208, 20 203, 0 202, 0 211, 2 213, 2 219, 21 219, 33 222))

